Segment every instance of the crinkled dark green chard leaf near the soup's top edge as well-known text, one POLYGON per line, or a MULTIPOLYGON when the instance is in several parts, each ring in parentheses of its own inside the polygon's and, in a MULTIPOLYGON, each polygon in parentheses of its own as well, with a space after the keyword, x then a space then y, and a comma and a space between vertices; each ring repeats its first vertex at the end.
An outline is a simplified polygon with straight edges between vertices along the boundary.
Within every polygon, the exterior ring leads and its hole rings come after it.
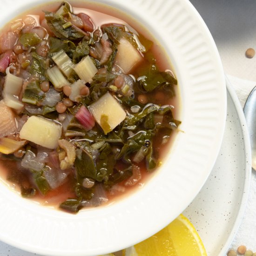
POLYGON ((80 28, 74 25, 63 28, 63 25, 66 24, 67 21, 64 20, 61 15, 47 11, 44 13, 47 24, 56 37, 60 39, 76 40, 86 35, 80 28))

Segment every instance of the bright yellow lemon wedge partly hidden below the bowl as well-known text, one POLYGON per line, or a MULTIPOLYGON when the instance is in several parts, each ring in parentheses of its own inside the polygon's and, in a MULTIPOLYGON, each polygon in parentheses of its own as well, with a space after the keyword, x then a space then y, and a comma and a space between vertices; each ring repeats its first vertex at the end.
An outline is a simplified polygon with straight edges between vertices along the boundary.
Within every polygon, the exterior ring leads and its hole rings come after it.
POLYGON ((183 215, 154 236, 122 251, 123 256, 207 256, 202 240, 183 215))

